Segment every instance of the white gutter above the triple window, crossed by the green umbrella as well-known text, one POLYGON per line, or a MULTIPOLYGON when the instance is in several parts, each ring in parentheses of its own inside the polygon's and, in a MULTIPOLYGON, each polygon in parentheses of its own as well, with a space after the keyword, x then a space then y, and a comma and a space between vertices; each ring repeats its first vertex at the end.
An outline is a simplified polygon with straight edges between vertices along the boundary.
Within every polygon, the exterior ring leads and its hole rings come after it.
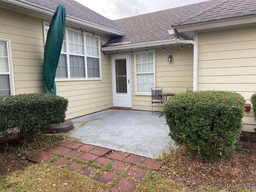
MULTIPOLYGON (((32 4, 30 2, 26 2, 24 0, 2 0, 2 1, 17 5, 17 6, 21 6, 23 8, 28 8, 30 10, 34 10, 36 12, 40 12, 40 13, 47 14, 47 15, 50 15, 50 16, 52 16, 54 14, 53 10, 50 10, 50 9, 44 8, 42 6, 32 4)), ((72 17, 72 16, 66 16, 66 20, 68 20, 70 22, 77 23, 77 24, 81 24, 81 25, 84 25, 84 26, 92 27, 92 28, 95 28, 95 29, 98 29, 98 30, 102 30, 102 31, 108 32, 110 34, 114 34, 114 35, 118 35, 118 36, 123 36, 124 35, 123 32, 113 30, 113 29, 110 29, 110 28, 107 28, 107 27, 104 27, 104 26, 101 26, 101 25, 98 25, 98 24, 94 24, 92 22, 84 21, 84 20, 81 20, 81 19, 78 19, 78 18, 75 18, 75 17, 72 17)))

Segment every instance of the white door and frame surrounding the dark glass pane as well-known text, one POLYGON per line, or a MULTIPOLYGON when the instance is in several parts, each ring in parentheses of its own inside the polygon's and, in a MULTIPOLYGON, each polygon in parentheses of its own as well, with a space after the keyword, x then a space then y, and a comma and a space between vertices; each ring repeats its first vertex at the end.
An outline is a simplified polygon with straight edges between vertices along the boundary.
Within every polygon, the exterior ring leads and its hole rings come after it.
MULTIPOLYGON (((132 82, 131 82, 131 55, 130 54, 118 54, 118 55, 111 55, 111 68, 112 68, 112 96, 113 96, 113 106, 114 107, 132 107, 132 82), (126 59, 126 83, 127 83, 127 103, 120 103, 116 101, 116 59, 126 59), (121 105, 121 106, 115 106, 121 105)), ((119 93, 120 95, 124 95, 119 93)))

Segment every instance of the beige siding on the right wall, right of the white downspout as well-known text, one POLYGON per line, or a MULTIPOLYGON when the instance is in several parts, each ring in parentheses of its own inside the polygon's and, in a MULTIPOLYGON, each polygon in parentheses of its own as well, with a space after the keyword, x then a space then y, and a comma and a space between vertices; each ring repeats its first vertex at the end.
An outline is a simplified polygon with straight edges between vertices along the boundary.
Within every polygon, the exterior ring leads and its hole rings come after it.
MULTIPOLYGON (((250 103, 256 92, 256 26, 198 33, 198 90, 240 93, 250 103)), ((244 131, 254 132, 252 110, 244 131)))

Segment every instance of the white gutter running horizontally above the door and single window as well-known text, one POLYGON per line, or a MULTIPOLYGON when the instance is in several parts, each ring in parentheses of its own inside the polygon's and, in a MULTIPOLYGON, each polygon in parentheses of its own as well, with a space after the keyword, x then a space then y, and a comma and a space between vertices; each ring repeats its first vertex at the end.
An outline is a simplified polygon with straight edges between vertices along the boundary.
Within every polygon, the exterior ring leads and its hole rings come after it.
POLYGON ((172 40, 164 40, 164 41, 156 41, 156 42, 148 42, 148 43, 140 43, 140 44, 102 47, 101 50, 115 51, 115 50, 126 50, 126 49, 135 49, 135 48, 144 48, 144 47, 155 47, 155 46, 170 45, 170 44, 177 44, 177 43, 174 41, 174 39, 172 39, 172 40))

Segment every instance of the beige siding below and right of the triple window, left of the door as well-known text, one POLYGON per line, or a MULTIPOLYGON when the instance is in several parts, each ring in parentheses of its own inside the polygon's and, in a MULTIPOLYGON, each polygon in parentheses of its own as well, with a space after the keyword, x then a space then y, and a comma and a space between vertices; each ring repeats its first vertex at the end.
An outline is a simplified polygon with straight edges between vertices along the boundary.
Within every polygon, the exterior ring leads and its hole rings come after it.
MULTIPOLYGON (((104 44, 108 39, 101 36, 100 41, 104 44)), ((66 118, 109 109, 112 102, 112 81, 110 54, 101 53, 102 80, 66 80, 56 81, 57 95, 68 99, 66 118)))

